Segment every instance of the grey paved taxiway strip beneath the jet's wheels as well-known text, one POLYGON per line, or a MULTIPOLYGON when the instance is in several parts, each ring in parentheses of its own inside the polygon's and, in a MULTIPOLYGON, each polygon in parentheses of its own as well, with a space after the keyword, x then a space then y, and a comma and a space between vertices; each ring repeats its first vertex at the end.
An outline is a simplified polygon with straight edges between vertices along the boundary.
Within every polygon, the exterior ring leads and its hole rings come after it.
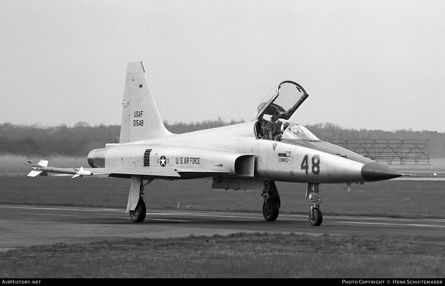
POLYGON ((325 216, 311 226, 306 215, 280 214, 267 222, 261 213, 147 210, 134 223, 123 209, 0 205, 0 249, 110 238, 170 238, 236 232, 337 235, 417 235, 443 237, 443 219, 325 216))

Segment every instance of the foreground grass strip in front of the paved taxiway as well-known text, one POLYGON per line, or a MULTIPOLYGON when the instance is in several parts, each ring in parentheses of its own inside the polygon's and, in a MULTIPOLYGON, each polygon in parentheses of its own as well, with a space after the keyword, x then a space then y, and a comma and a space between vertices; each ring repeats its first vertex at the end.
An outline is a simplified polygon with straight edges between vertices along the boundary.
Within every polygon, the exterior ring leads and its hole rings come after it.
POLYGON ((434 238, 232 234, 59 243, 0 253, 15 278, 443 278, 434 238))

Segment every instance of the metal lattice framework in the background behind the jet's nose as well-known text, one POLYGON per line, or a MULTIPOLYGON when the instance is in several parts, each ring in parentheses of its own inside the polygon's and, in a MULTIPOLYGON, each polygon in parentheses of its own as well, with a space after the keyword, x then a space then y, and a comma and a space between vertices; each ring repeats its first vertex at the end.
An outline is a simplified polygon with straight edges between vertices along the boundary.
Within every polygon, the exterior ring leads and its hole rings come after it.
POLYGON ((323 139, 375 161, 429 164, 429 139, 323 139))

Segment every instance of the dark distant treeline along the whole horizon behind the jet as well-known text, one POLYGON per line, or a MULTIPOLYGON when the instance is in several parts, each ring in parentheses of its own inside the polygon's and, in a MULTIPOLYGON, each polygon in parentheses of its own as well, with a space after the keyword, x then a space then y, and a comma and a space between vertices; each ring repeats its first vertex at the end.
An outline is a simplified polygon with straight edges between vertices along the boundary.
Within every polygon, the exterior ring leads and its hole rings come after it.
MULTIPOLYGON (((242 123, 244 121, 207 120, 201 122, 164 122, 172 133, 186 133, 202 129, 242 123)), ((332 123, 306 125, 317 137, 322 139, 429 139, 429 157, 445 158, 445 133, 437 131, 344 129, 332 123)), ((121 130, 120 125, 94 125, 77 122, 73 127, 59 125, 43 127, 39 125, 0 125, 0 154, 14 155, 64 155, 86 156, 89 151, 103 148, 106 143, 115 143, 121 130)))

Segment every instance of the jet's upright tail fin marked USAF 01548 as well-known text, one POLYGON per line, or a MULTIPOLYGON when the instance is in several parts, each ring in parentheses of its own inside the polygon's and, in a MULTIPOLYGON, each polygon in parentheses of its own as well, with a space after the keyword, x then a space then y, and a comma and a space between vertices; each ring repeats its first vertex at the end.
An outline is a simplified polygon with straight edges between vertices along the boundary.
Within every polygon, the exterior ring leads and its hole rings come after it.
POLYGON ((173 135, 162 123, 141 61, 127 64, 119 143, 173 135))

